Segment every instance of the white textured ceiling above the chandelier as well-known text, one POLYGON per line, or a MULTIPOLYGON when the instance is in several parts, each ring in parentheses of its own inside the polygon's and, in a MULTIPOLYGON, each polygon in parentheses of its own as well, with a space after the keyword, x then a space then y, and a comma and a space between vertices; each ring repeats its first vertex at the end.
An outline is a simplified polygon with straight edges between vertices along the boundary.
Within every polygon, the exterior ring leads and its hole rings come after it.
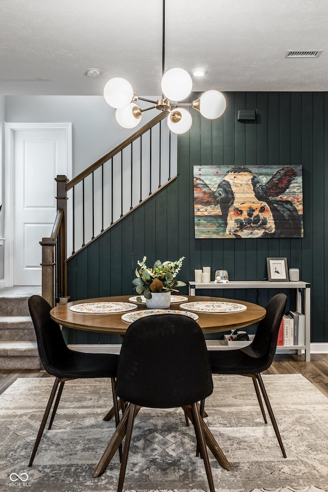
MULTIPOLYGON (((165 50, 166 69, 207 70, 195 91, 327 91, 328 0, 166 0, 165 50)), ((159 94, 161 56, 161 0, 0 1, 0 95, 100 95, 114 76, 159 94)))

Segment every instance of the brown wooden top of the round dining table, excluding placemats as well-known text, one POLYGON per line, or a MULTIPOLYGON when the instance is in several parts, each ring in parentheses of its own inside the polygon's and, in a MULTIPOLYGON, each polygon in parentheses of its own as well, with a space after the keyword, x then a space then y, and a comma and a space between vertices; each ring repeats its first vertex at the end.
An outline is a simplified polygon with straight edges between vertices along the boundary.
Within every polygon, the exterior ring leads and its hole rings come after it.
MULTIPOLYGON (((78 330, 87 330, 89 332, 98 333, 116 333, 118 335, 125 334, 130 323, 121 320, 124 313, 115 314, 91 314, 91 313, 76 313, 70 310, 74 304, 82 304, 86 302, 131 302, 129 297, 132 296, 115 296, 115 297, 97 297, 94 299, 83 299, 66 304, 58 304, 50 311, 50 316, 54 321, 69 328, 78 330)), ((265 309, 257 304, 244 301, 236 301, 235 299, 226 299, 220 297, 208 296, 185 296, 188 301, 222 301, 222 302, 237 302, 247 306, 247 310, 237 313, 199 313, 197 323, 201 327, 204 334, 215 333, 233 330, 235 328, 243 328, 250 324, 257 323, 265 316, 265 309)), ((133 304, 133 303, 132 303, 133 304)), ((179 310, 179 303, 171 303, 170 309, 179 310)), ((146 304, 137 304, 137 310, 145 310, 146 304)), ((136 311, 137 311, 136 310, 136 311)), ((151 310, 150 310, 151 311, 151 310)), ((130 311, 133 312, 133 311, 130 311)))

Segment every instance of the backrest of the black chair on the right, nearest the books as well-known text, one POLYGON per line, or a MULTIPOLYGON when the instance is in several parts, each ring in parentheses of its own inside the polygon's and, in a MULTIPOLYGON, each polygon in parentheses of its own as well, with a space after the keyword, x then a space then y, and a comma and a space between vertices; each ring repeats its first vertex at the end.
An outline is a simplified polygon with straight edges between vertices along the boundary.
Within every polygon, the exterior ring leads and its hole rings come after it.
MULTIPOLYGON (((250 350, 262 359, 265 368, 268 368, 275 356, 277 348, 278 332, 281 319, 286 307, 287 296, 285 294, 275 295, 268 303, 267 314, 257 326, 255 337, 251 345, 244 347, 243 352, 250 350)), ((262 369, 264 371, 264 369, 262 369)))

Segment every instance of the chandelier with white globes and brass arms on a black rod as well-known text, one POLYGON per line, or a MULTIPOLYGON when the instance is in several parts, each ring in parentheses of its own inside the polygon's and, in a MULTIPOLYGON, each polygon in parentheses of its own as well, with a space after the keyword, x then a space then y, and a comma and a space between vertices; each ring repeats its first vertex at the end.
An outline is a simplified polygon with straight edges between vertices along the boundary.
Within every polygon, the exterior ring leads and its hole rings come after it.
POLYGON ((208 119, 216 119, 226 109, 226 99, 217 90, 204 92, 192 103, 179 103, 186 99, 192 91, 192 78, 182 68, 171 68, 165 72, 165 0, 162 15, 162 95, 156 101, 138 96, 128 80, 121 77, 111 78, 104 88, 106 102, 116 109, 115 118, 123 128, 134 128, 140 121, 142 113, 151 109, 169 111, 168 126, 173 133, 185 133, 192 125, 192 116, 185 107, 192 107, 208 119), (142 109, 136 101, 146 101, 153 106, 142 109))

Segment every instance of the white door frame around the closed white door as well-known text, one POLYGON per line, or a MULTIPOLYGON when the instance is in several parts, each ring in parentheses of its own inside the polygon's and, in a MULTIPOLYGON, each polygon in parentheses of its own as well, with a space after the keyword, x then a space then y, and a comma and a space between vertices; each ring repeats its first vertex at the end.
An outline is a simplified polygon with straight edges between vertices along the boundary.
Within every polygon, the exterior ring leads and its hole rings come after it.
MULTIPOLYGON (((72 179, 72 123, 5 123, 5 178, 4 178, 4 221, 5 221, 5 286, 14 284, 14 132, 32 130, 64 130, 66 133, 66 152, 68 179, 72 179)), ((67 230, 71 230, 72 203, 67 204, 67 230)), ((40 237, 40 241, 42 237, 40 237)), ((67 235, 67 251, 70 251, 72 239, 67 235)))

